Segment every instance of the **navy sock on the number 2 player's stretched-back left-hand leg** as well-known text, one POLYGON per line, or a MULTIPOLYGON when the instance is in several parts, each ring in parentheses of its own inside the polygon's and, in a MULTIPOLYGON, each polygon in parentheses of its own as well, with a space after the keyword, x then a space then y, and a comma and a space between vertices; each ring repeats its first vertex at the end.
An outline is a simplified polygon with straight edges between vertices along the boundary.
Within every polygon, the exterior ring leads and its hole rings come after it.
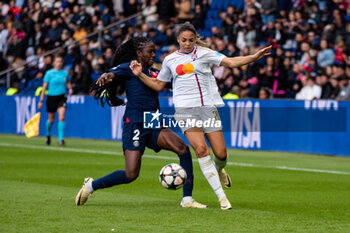
POLYGON ((94 180, 91 185, 94 190, 97 190, 127 183, 130 183, 130 181, 126 178, 125 170, 118 170, 94 180))

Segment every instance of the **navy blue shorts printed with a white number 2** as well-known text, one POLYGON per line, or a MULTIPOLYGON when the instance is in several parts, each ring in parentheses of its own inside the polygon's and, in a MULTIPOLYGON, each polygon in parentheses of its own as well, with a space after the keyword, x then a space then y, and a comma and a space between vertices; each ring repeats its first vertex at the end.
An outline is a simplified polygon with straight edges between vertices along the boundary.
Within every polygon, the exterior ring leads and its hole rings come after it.
POLYGON ((159 133, 162 129, 144 129, 143 123, 129 122, 123 126, 123 150, 145 151, 146 146, 159 152, 157 146, 159 133))

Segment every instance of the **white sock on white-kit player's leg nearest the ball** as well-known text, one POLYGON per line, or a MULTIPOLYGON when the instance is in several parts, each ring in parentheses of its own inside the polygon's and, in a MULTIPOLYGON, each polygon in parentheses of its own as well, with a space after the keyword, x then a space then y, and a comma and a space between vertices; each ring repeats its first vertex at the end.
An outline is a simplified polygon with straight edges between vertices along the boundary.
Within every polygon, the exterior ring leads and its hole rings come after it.
POLYGON ((222 197, 226 197, 224 190, 222 189, 218 171, 215 169, 213 161, 211 161, 210 155, 198 159, 199 166, 203 172, 204 177, 207 179, 211 188, 214 190, 219 200, 222 197))

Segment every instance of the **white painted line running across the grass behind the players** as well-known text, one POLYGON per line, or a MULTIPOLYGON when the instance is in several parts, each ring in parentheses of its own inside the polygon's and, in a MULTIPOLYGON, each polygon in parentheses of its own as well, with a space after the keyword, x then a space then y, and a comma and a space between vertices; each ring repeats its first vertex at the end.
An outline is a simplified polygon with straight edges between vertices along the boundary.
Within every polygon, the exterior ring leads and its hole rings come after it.
MULTIPOLYGON (((32 145, 2 143, 2 142, 0 142, 0 146, 3 146, 3 147, 18 147, 18 148, 30 148, 30 149, 39 149, 39 150, 54 150, 54 151, 68 151, 68 152, 79 152, 79 153, 105 154, 105 155, 123 156, 123 153, 120 153, 120 152, 77 149, 77 148, 67 148, 67 147, 32 146, 32 145)), ((157 156, 157 155, 144 154, 142 157, 152 158, 152 159, 162 159, 162 160, 165 160, 165 159, 166 160, 178 160, 178 158, 175 157, 175 156, 174 157, 170 157, 170 156, 157 156)), ((197 159, 194 159, 194 161, 197 161, 197 159)), ((310 169, 310 168, 297 168, 297 167, 287 167, 287 166, 268 166, 268 165, 259 165, 259 164, 250 164, 250 163, 234 163, 234 162, 227 162, 227 164, 228 165, 233 165, 233 166, 240 166, 240 167, 257 167, 257 168, 270 168, 270 169, 278 169, 278 170, 290 170, 290 171, 303 171, 303 172, 350 175, 350 172, 321 170, 321 169, 310 169)))

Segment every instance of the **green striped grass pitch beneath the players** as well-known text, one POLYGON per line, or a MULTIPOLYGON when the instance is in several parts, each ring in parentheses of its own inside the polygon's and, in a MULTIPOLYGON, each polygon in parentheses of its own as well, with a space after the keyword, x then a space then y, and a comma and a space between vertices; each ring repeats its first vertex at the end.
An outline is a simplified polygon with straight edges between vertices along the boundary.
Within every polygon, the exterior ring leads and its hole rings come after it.
POLYGON ((177 156, 146 150, 136 181, 75 206, 85 177, 124 169, 121 143, 67 139, 62 149, 52 141, 47 147, 43 137, 0 135, 0 232, 350 232, 350 158, 229 150, 233 187, 225 192, 233 209, 222 211, 197 161, 193 196, 209 209, 183 209, 182 190, 158 182, 177 156))

